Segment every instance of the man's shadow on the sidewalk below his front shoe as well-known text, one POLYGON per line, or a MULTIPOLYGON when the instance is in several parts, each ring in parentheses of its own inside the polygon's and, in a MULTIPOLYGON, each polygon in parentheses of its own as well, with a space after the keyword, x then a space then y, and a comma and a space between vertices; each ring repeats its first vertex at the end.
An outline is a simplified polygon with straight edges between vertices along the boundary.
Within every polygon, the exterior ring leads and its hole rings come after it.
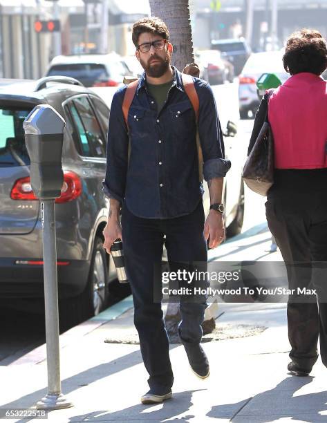
MULTIPOLYGON (((88 422, 88 423, 105 423, 105 422, 191 422, 195 415, 186 415, 183 417, 175 417, 180 414, 186 413, 193 405, 191 397, 193 393, 202 391, 197 389, 194 391, 185 391, 174 393, 173 398, 165 401, 162 404, 143 405, 136 404, 134 406, 124 408, 123 410, 114 411, 111 413, 108 410, 93 411, 84 415, 76 415, 71 417, 70 422, 88 422)), ((110 400, 108 400, 110 402, 110 400)))

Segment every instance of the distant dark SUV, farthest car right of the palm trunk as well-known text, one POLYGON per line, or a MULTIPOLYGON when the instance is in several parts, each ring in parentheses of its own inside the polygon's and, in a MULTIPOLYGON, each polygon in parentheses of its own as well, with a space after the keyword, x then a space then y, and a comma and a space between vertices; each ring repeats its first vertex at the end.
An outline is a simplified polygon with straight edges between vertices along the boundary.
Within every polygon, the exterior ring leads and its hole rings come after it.
POLYGON ((213 39, 211 48, 221 51, 223 58, 234 66, 235 75, 238 76, 251 54, 251 48, 243 37, 230 39, 213 39))

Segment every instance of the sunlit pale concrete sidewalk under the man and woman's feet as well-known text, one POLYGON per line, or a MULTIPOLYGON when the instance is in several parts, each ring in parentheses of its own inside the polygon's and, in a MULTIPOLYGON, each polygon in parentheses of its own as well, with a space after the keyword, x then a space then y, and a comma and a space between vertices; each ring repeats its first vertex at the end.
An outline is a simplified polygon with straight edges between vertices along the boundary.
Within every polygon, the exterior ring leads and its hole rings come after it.
MULTIPOLYGON (((256 245, 259 258, 258 252, 265 254, 270 238, 264 226, 256 232, 226 243, 215 254, 222 257, 241 250, 247 256, 256 245)), ((214 258, 214 252, 210 254, 214 258)), ((280 259, 278 252, 270 256, 280 259)), ((211 375, 204 381, 191 372, 183 346, 172 344, 173 399, 156 406, 140 404, 140 395, 148 390, 147 373, 139 346, 133 344, 137 337, 131 307, 131 299, 125 299, 61 335, 62 392, 74 406, 51 411, 49 422, 327 422, 326 369, 321 361, 310 377, 287 373, 290 346, 285 304, 219 304, 217 326, 225 334, 234 329, 236 337, 206 339, 203 348, 211 375), (256 326, 266 329, 246 336, 256 326), (124 334, 132 344, 104 342, 124 334)), ((1 408, 28 408, 46 394, 45 358, 41 346, 0 368, 1 408)))

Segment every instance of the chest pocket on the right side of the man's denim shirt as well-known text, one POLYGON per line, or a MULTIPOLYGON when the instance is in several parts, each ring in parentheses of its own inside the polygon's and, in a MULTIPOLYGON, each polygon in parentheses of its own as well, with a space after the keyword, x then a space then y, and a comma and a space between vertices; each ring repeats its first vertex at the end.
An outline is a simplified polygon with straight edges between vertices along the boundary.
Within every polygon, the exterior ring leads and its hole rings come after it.
POLYGON ((176 103, 169 108, 170 120, 172 129, 176 135, 181 136, 183 132, 189 133, 194 131, 195 126, 195 113, 191 102, 188 100, 176 103))

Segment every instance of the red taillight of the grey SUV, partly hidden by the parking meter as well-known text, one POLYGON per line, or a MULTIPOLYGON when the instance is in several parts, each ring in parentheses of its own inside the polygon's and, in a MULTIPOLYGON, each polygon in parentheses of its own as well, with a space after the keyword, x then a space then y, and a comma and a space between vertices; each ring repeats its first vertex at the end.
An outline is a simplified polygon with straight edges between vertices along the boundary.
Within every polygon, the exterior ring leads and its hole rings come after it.
MULTIPOLYGON (((66 203, 67 201, 75 200, 82 194, 82 182, 80 176, 72 171, 64 171, 64 183, 62 185, 62 194, 56 198, 55 203, 66 203)), ((15 182, 12 187, 10 198, 12 200, 37 200, 33 194, 30 185, 30 177, 21 178, 15 182)))

